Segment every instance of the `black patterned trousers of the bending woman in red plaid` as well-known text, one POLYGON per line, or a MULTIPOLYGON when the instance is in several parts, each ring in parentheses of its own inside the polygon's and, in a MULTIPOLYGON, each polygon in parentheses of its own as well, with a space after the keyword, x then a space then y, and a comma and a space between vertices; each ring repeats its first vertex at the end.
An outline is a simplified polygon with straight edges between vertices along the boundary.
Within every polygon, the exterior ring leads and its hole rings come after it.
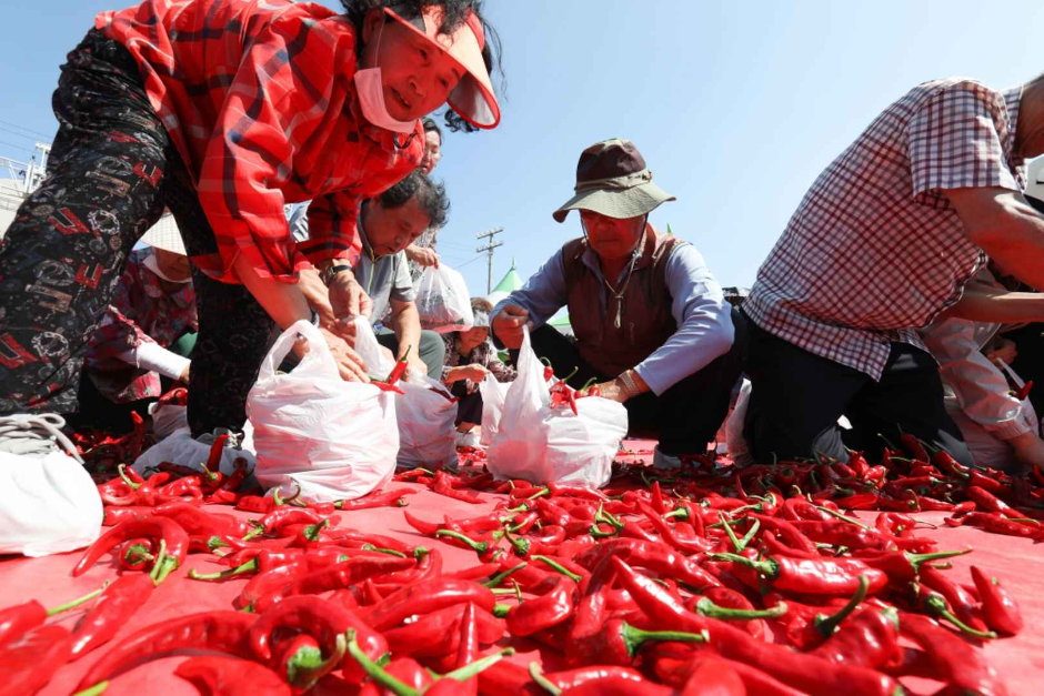
MULTIPOLYGON (((0 415, 77 411, 87 344, 128 253, 164 206, 189 255, 217 251, 188 171, 127 49, 91 30, 61 71, 48 176, 0 243, 0 415)), ((195 269, 192 282, 200 331, 189 424, 195 435, 238 430, 272 321, 242 285, 195 269)))

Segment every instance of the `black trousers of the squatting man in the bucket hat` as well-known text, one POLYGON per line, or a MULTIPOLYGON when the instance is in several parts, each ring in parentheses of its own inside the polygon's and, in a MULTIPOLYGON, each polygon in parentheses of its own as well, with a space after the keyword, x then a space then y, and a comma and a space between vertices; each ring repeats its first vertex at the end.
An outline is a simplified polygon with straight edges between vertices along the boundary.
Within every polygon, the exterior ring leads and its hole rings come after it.
MULTIPOLYGON (((580 357, 569 339, 544 325, 530 334, 533 350, 554 366, 554 374, 564 377, 576 369, 569 385, 582 387, 592 377, 599 382, 619 375, 601 374, 580 357)), ((518 351, 511 351, 518 359, 518 351)), ((624 404, 628 410, 630 433, 653 436, 660 441, 664 454, 702 454, 714 440, 717 428, 729 414, 732 389, 740 377, 740 350, 732 350, 712 361, 700 372, 691 374, 660 396, 648 392, 624 404)))

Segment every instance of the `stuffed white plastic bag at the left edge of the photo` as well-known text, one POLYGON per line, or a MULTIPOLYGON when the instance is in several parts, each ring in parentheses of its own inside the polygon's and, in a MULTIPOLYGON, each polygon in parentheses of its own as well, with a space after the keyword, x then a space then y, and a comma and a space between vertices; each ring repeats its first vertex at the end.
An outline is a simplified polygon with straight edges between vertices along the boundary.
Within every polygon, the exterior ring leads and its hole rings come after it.
POLYGON ((0 554, 47 556, 82 548, 101 532, 101 497, 64 452, 39 460, 0 452, 0 554))

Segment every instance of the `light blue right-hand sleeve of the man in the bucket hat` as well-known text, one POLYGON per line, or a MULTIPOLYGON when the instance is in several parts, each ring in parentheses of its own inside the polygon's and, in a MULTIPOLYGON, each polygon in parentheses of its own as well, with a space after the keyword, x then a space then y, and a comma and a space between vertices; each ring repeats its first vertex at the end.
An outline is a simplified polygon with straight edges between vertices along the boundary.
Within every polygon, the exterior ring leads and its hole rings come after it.
POLYGON ((634 367, 656 395, 727 353, 735 336, 732 305, 692 244, 675 246, 664 272, 677 331, 634 367))

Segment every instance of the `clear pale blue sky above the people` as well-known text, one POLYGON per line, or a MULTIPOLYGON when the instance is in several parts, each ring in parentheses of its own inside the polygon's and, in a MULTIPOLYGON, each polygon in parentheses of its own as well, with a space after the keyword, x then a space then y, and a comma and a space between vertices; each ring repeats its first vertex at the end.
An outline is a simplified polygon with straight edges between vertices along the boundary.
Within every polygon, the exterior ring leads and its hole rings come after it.
MULTIPOLYGON (((327 2, 337 7, 333 0, 327 2)), ((494 278, 534 272, 580 234, 551 212, 580 151, 633 140, 677 196, 653 224, 694 243, 724 285, 750 285, 816 174, 911 87, 967 75, 995 88, 1044 71, 1041 0, 486 0, 501 32, 501 128, 450 133, 435 174, 452 199, 440 251, 484 293, 476 232, 504 226, 494 278), (1037 50, 1034 50, 1036 48, 1037 50)), ((57 128, 58 65, 120 0, 6 3, 0 154, 57 128), (21 127, 12 128, 11 124, 21 127), (12 132, 13 131, 13 132, 12 132), (29 138, 26 138, 28 135, 29 138)))

